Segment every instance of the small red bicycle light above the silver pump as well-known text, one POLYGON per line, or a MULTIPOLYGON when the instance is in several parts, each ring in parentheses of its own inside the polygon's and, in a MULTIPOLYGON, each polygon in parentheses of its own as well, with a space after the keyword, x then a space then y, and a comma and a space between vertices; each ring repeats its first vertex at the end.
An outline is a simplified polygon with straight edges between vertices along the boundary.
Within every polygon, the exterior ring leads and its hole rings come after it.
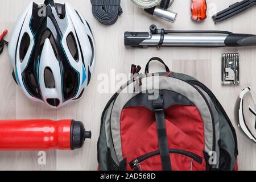
POLYGON ((191 0, 192 20, 201 22, 207 18, 207 2, 206 0, 191 0))

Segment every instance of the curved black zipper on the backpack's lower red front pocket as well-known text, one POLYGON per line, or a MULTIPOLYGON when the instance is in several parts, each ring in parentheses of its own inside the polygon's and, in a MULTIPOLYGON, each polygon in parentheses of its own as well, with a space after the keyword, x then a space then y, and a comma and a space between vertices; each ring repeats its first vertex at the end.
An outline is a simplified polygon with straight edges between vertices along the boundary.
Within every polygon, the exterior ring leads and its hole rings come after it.
MULTIPOLYGON (((191 158, 193 161, 195 160, 197 163, 200 163, 200 164, 203 163, 203 159, 199 155, 196 155, 189 151, 184 151, 179 149, 170 149, 169 153, 184 155, 184 156, 187 156, 188 158, 191 158)), ((152 156, 155 156, 155 155, 160 155, 160 151, 158 150, 158 151, 150 152, 148 154, 139 156, 137 159, 134 159, 130 163, 130 167, 135 171, 139 171, 139 169, 142 170, 140 163, 142 163, 144 160, 147 160, 148 158, 151 158, 152 156)))

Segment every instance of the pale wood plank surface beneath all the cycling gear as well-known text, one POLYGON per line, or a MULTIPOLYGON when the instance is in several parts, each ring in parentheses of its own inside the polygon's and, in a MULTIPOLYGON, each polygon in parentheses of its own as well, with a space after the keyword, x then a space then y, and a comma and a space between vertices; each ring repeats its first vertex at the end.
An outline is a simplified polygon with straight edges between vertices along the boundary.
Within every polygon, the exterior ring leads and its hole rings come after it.
MULTIPOLYGON (((43 0, 42 0, 43 1, 43 0)), ((36 1, 42 3, 42 1, 36 1)), ((28 100, 16 86, 11 77, 11 64, 7 49, 0 56, 0 119, 67 119, 83 121, 86 129, 92 130, 92 139, 86 140, 84 148, 76 151, 47 151, 46 165, 38 164, 38 151, 0 152, 1 170, 96 170, 97 139, 100 133, 102 110, 113 93, 97 92, 98 75, 129 73, 131 64, 141 65, 153 56, 159 56, 175 72, 195 76, 204 82, 224 106, 234 126, 234 104, 240 91, 246 86, 256 90, 256 48, 147 48, 130 49, 123 45, 123 32, 127 30, 148 30, 151 24, 172 30, 225 30, 239 33, 256 34, 255 8, 229 19, 214 24, 210 16, 237 0, 208 0, 208 19, 195 23, 190 19, 190 0, 175 1, 170 8, 178 13, 176 23, 153 18, 135 7, 129 0, 121 0, 123 14, 112 26, 102 26, 93 18, 90 1, 67 0, 78 9, 92 26, 97 44, 97 63, 91 84, 81 100, 52 110, 40 103, 28 100), (240 86, 221 86, 221 53, 238 52, 241 56, 240 86)), ((0 31, 12 30, 14 22, 30 0, 0 0, 0 31)), ((63 1, 61 1, 63 2, 63 1)), ((9 35, 6 40, 9 40, 9 35)), ((157 63, 151 64, 151 71, 162 71, 157 63)), ((118 81, 117 81, 118 82, 118 81)), ((256 145, 246 140, 235 126, 238 135, 238 165, 240 170, 256 169, 256 145)))

